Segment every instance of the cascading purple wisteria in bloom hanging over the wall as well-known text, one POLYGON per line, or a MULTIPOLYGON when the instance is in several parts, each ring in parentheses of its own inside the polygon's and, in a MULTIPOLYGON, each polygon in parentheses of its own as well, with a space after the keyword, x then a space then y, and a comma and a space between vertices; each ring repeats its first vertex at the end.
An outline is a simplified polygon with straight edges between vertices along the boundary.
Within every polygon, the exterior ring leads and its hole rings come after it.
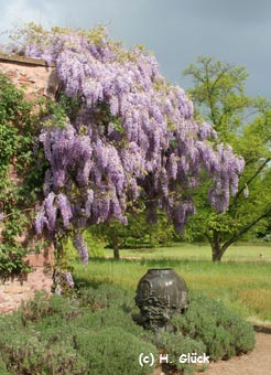
POLYGON ((30 25, 13 51, 55 65, 69 103, 61 120, 44 121, 39 138, 48 161, 39 234, 57 240, 72 233, 87 261, 82 231, 116 218, 127 224, 126 212, 139 199, 150 221, 164 210, 182 231, 202 173, 212 180, 212 205, 227 208, 243 160, 216 143, 210 125, 195 121, 192 101, 160 74, 154 56, 109 41, 102 28, 30 25))

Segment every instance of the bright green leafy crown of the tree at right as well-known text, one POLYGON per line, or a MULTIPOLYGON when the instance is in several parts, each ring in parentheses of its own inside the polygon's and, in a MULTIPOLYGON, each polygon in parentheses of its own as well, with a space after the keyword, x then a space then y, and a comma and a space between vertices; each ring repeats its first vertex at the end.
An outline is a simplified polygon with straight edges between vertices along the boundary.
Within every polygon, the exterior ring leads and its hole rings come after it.
POLYGON ((243 67, 198 57, 184 74, 194 81, 189 95, 197 117, 210 121, 217 141, 229 143, 246 161, 239 190, 226 212, 215 212, 205 199, 210 183, 205 175, 195 195, 197 213, 187 233, 192 238, 207 238, 213 260, 219 261, 231 244, 263 228, 271 215, 271 104, 246 95, 243 67))

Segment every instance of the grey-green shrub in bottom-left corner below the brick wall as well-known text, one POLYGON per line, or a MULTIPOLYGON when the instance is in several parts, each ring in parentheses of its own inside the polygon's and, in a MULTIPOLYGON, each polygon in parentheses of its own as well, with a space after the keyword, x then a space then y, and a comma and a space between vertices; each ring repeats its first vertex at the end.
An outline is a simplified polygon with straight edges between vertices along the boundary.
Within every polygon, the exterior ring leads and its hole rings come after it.
POLYGON ((46 293, 37 293, 24 304, 28 309, 0 318, 0 353, 11 374, 86 374, 86 362, 74 347, 66 319, 71 314, 64 313, 71 303, 58 296, 48 299, 46 293))

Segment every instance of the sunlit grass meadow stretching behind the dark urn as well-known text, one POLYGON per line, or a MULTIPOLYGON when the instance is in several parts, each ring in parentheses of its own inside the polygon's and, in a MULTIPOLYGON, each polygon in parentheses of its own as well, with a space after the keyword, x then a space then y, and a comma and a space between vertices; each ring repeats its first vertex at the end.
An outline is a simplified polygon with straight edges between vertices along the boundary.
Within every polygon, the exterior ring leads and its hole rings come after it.
POLYGON ((88 266, 76 262, 75 279, 87 283, 107 280, 136 291, 149 268, 172 267, 184 277, 189 290, 221 300, 252 323, 271 323, 270 246, 232 246, 220 264, 207 260, 207 246, 122 250, 123 255, 129 259, 91 259, 88 266))

